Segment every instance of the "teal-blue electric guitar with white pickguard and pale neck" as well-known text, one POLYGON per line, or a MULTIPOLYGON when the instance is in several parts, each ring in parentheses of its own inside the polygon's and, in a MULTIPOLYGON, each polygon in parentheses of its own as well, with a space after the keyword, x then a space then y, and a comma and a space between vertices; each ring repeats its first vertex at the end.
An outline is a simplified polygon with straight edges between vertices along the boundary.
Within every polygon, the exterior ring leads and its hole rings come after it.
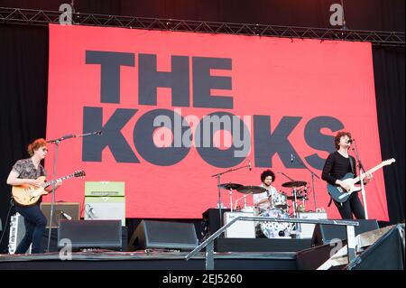
MULTIPOLYGON (((378 169, 381 169, 383 166, 390 165, 394 162, 395 160, 393 158, 385 160, 383 161, 383 163, 376 165, 374 168, 368 170, 367 172, 372 174, 378 169)), ((355 178, 353 173, 348 172, 342 179, 340 179, 341 181, 350 185, 350 190, 345 190, 339 185, 331 185, 330 183, 328 183, 328 194, 330 194, 331 198, 333 198, 337 202, 345 202, 352 193, 361 190, 361 186, 355 186, 355 183, 360 181, 360 179, 363 179, 367 172, 364 172, 362 175, 355 178)))

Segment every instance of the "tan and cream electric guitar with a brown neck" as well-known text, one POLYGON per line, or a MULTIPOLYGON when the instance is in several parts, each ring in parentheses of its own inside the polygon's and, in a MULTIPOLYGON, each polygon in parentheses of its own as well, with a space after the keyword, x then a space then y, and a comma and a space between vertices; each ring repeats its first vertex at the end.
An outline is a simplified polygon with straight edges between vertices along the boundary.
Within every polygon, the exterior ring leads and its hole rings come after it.
POLYGON ((23 206, 33 205, 40 200, 42 195, 47 195, 49 193, 45 190, 48 186, 55 184, 57 181, 67 180, 72 177, 83 177, 85 175, 86 173, 83 170, 80 170, 48 182, 45 182, 45 176, 38 177, 37 181, 43 182, 40 187, 29 184, 13 186, 12 194, 14 201, 23 206))

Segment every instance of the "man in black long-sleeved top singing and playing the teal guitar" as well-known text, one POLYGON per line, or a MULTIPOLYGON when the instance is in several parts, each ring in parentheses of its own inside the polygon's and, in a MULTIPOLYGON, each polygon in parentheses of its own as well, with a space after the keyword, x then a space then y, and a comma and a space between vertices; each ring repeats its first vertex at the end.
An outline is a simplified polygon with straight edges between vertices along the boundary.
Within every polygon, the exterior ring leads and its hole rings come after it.
MULTIPOLYGON (((328 159, 323 167, 321 178, 332 185, 341 186, 344 190, 349 190, 350 187, 347 183, 341 181, 347 172, 351 172, 356 177, 356 164, 355 158, 348 154, 348 149, 351 146, 351 134, 349 132, 340 131, 334 138, 334 144, 337 151, 330 153, 328 159)), ((372 175, 367 173, 364 178, 366 184, 372 179, 372 175)), ((332 199, 328 203, 330 206, 332 199)), ((353 214, 357 219, 364 219, 364 206, 358 198, 358 193, 352 193, 351 196, 343 203, 334 200, 338 212, 343 219, 353 219, 353 214)))

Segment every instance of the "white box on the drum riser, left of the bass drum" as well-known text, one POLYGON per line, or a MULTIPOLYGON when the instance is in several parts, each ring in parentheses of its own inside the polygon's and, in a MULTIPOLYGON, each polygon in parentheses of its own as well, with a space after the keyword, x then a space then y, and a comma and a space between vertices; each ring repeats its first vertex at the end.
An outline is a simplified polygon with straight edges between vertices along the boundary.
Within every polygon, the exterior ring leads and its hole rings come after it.
MULTIPOLYGON (((239 216, 252 217, 254 213, 248 212, 226 212, 224 213, 224 223, 225 225, 231 220, 239 216)), ((226 238, 254 238, 255 237, 255 226, 254 221, 236 221, 230 228, 226 229, 226 238)))

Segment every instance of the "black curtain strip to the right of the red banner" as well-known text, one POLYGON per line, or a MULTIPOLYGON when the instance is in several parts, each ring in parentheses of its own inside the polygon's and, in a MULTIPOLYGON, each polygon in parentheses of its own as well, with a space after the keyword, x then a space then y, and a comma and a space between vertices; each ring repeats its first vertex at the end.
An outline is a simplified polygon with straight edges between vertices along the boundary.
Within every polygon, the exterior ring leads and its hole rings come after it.
POLYGON ((392 222, 404 221, 404 48, 375 47, 373 57, 382 158, 396 159, 383 169, 389 217, 392 222))

